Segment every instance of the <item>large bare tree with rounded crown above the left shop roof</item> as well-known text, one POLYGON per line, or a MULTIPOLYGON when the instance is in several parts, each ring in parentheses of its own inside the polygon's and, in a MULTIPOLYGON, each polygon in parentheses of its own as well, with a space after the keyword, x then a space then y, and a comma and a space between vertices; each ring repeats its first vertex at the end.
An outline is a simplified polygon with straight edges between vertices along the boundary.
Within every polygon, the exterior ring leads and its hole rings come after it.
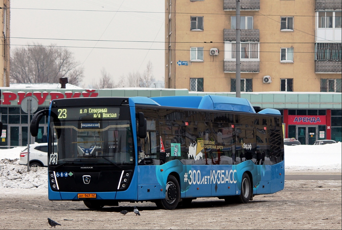
POLYGON ((83 68, 67 48, 32 46, 14 48, 11 53, 11 82, 15 83, 58 83, 67 77, 70 84, 79 85, 83 68))

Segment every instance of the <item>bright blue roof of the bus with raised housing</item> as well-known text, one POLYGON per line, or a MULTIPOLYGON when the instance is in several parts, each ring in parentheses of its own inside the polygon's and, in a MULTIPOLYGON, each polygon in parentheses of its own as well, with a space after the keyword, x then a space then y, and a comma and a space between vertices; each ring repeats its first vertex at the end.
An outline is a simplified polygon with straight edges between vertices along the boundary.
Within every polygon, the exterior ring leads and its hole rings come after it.
MULTIPOLYGON (((251 103, 245 98, 235 98, 226 96, 167 96, 167 97, 130 97, 129 105, 135 104, 159 105, 170 107, 183 107, 189 109, 204 109, 204 110, 221 110, 255 113, 251 103)), ((280 115, 280 112, 275 109, 267 109, 260 111, 260 114, 280 115)))

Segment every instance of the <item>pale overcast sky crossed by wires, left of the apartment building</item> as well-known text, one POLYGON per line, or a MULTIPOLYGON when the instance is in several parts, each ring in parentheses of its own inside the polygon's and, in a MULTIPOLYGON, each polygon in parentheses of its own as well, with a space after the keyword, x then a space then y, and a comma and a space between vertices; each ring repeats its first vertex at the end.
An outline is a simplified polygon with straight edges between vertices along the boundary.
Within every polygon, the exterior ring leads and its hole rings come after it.
POLYGON ((33 42, 72 46, 68 49, 84 67, 84 87, 98 80, 103 67, 118 82, 121 75, 142 73, 148 61, 156 81, 164 81, 164 14, 137 12, 163 12, 164 4, 161 0, 11 0, 11 49, 33 42))

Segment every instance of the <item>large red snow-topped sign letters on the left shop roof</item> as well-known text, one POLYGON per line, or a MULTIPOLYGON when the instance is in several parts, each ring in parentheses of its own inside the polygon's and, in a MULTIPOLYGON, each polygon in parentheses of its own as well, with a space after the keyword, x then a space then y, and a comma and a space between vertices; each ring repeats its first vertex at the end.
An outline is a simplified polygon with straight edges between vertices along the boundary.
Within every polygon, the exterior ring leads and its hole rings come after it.
POLYGON ((79 98, 79 97, 98 97, 98 93, 95 92, 95 89, 87 89, 83 92, 71 92, 71 91, 65 91, 65 92, 23 92, 19 91, 17 93, 10 92, 10 91, 4 91, 2 92, 3 100, 1 101, 1 104, 4 105, 10 105, 11 101, 17 101, 18 105, 21 105, 21 102, 25 97, 28 96, 35 96, 38 100, 38 104, 43 104, 46 100, 49 100, 50 102, 54 99, 61 99, 61 98, 79 98), (49 96, 49 97, 48 97, 49 96))

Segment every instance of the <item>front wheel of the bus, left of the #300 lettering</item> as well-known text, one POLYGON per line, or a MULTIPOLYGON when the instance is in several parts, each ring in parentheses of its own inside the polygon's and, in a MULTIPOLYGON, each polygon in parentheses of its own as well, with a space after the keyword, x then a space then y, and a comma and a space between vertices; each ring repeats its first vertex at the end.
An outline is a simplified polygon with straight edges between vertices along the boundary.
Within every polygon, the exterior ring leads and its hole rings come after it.
POLYGON ((160 209, 174 210, 179 202, 181 191, 177 179, 169 175, 166 183, 165 198, 156 201, 160 209))

